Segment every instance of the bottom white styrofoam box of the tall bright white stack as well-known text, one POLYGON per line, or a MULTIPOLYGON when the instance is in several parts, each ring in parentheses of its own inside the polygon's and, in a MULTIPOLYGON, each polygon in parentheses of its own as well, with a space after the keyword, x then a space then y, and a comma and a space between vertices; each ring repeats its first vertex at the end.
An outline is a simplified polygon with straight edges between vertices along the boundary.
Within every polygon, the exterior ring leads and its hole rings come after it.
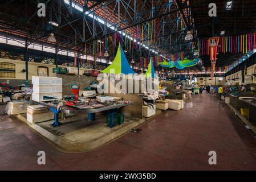
POLYGON ((36 102, 61 100, 62 93, 32 93, 32 100, 36 102))

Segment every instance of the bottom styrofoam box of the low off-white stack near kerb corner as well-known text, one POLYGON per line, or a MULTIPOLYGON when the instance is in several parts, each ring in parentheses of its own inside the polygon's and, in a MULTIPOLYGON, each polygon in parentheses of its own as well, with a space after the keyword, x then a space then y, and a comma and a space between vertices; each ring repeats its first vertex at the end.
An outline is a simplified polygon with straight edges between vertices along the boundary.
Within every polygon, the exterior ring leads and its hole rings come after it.
POLYGON ((48 111, 47 113, 31 114, 27 112, 27 121, 30 123, 38 123, 54 119, 54 113, 48 111))

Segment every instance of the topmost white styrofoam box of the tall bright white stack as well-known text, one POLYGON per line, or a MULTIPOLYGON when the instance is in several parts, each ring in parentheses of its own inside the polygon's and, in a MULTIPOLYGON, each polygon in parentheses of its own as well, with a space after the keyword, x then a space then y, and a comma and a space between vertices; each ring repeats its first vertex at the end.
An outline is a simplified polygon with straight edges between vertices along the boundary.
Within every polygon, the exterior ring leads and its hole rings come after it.
POLYGON ((33 85, 62 85, 62 78, 47 77, 47 76, 35 76, 32 77, 33 85))

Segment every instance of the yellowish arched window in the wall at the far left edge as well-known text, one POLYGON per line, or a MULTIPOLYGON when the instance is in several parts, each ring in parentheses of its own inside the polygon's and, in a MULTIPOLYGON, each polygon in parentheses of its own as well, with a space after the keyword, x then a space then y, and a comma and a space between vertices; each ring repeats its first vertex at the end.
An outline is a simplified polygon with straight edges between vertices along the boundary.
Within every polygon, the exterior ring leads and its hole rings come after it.
POLYGON ((15 78, 15 64, 1 62, 0 63, 0 78, 15 78))

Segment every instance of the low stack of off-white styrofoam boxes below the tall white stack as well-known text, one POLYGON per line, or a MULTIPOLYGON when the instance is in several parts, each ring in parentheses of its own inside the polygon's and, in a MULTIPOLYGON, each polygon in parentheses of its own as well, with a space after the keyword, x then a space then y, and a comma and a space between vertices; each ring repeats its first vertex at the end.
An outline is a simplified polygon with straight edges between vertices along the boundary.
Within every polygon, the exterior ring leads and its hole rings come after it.
POLYGON ((54 119, 54 113, 49 111, 46 106, 32 105, 27 106, 27 121, 38 123, 54 119))

